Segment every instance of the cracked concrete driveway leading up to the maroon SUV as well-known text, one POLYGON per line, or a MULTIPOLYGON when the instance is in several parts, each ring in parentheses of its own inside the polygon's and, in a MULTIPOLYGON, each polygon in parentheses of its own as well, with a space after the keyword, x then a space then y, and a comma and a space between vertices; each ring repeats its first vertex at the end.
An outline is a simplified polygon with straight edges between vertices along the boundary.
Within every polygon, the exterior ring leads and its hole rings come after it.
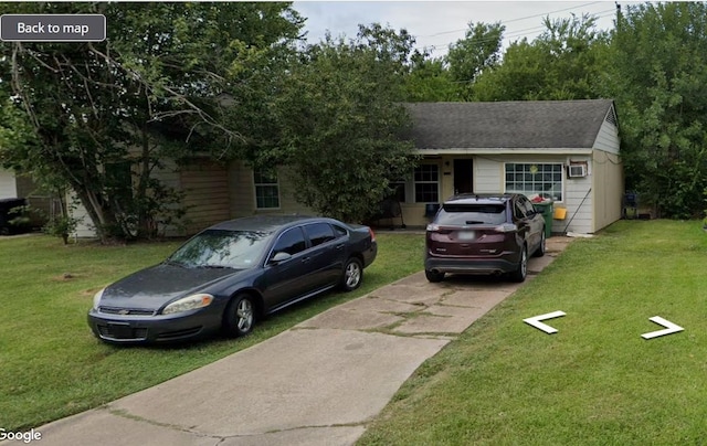
MULTIPOLYGON (((528 279, 570 241, 548 240, 547 255, 530 259, 528 279)), ((456 277, 430 284, 416 273, 199 370, 35 431, 52 446, 351 445, 422 362, 519 286, 456 277)))

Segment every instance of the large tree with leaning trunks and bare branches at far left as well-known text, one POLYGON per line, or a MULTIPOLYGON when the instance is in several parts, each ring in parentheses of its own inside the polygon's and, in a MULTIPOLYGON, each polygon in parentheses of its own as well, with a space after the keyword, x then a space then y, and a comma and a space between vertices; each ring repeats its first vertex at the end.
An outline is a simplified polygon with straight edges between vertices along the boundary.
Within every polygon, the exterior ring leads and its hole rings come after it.
POLYGON ((228 117, 234 108, 241 116, 257 114, 249 95, 263 84, 251 81, 277 72, 273 65, 302 26, 287 3, 6 9, 103 13, 110 23, 104 42, 6 44, 0 60, 3 84, 12 85, 10 106, 25 114, 34 135, 34 144, 24 146, 3 138, 1 162, 35 178, 46 170, 60 176, 104 241, 148 236, 170 200, 178 200, 154 176, 165 157, 245 150, 247 128, 228 117), (228 110, 224 96, 232 98, 228 110))

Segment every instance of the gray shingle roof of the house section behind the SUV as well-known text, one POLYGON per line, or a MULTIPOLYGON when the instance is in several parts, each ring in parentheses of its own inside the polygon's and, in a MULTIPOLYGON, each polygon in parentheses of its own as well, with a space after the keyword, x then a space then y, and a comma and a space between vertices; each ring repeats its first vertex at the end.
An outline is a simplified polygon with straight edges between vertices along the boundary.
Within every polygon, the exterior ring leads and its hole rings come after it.
POLYGON ((591 148, 612 99, 405 104, 419 149, 591 148))

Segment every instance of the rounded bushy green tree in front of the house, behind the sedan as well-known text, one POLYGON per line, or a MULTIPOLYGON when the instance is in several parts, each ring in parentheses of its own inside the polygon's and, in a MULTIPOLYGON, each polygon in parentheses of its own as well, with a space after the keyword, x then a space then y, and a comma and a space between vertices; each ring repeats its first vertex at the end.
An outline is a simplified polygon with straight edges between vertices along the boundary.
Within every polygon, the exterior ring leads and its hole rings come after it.
POLYGON ((292 67, 277 107, 278 158, 291 167, 302 202, 360 222, 389 193, 389 182, 412 169, 400 99, 413 42, 404 31, 360 26, 349 42, 327 36, 310 45, 292 67))

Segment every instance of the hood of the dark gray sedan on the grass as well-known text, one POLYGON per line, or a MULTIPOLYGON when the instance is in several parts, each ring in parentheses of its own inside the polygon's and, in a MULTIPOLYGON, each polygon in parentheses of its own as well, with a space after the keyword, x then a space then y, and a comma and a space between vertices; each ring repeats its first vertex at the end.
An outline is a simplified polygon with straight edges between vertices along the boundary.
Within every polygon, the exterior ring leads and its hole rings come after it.
POLYGON ((219 279, 241 272, 231 268, 184 268, 160 264, 109 285, 103 291, 101 305, 157 309, 177 297, 201 291, 219 279))

